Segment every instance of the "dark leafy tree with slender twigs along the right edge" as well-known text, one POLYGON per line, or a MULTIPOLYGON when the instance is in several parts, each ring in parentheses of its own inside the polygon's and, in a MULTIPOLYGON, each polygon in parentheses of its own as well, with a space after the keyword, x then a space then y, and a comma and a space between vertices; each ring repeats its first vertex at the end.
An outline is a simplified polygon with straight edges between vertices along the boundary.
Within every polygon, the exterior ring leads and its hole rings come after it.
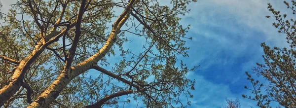
MULTIPOLYGON (((292 0, 292 4, 284 1, 288 9, 295 14, 296 1, 292 0)), ((287 43, 290 47, 279 48, 261 43, 263 47, 264 64, 257 63, 257 67, 253 69, 259 77, 263 77, 268 81, 268 84, 263 84, 259 80, 255 80, 250 73, 248 80, 252 83, 252 87, 245 86, 246 89, 252 91, 255 96, 242 95, 244 98, 255 100, 260 108, 271 108, 270 103, 278 103, 279 107, 294 108, 296 106, 296 21, 294 19, 287 20, 287 14, 280 14, 270 3, 268 9, 272 12, 272 16, 267 18, 275 18, 277 22, 273 26, 278 29, 279 33, 286 35, 287 43), (261 91, 265 91, 262 93, 261 91)))

